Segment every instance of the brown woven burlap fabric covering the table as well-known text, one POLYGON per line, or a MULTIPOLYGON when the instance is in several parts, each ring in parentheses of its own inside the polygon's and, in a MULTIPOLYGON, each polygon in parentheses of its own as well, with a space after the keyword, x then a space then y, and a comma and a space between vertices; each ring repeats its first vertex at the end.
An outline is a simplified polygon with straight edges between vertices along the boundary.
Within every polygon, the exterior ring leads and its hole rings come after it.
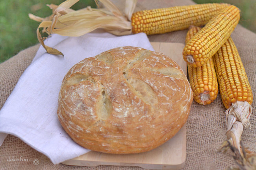
MULTIPOLYGON (((116 1, 118 2, 118 1, 116 1)), ((194 4, 190 0, 141 0, 137 4, 137 10, 168 7, 174 5, 194 4)), ((119 3, 119 5, 122 5, 119 3)), ((185 42, 187 30, 175 31, 163 35, 148 36, 153 42, 185 42)), ((247 76, 256 96, 256 34, 238 25, 232 33, 240 57, 246 69, 247 76)), ((21 51, 19 54, 0 64, 0 108, 4 105, 7 97, 15 87, 23 71, 29 66, 39 45, 35 45, 21 51)), ((184 170, 218 169, 223 170, 228 166, 236 166, 231 157, 227 154, 217 153, 217 149, 226 140, 225 108, 221 97, 208 106, 202 106, 193 102, 191 112, 187 120, 187 155, 184 170)), ((251 130, 244 129, 242 140, 245 146, 256 152, 256 102, 252 103, 253 113, 250 117, 251 130)), ((139 170, 143 168, 132 166, 67 166, 53 165, 50 160, 40 152, 37 152, 19 138, 8 135, 0 147, 0 169, 38 169, 38 170, 139 170), (9 157, 20 157, 38 159, 39 164, 34 165, 29 161, 7 161, 9 157)))

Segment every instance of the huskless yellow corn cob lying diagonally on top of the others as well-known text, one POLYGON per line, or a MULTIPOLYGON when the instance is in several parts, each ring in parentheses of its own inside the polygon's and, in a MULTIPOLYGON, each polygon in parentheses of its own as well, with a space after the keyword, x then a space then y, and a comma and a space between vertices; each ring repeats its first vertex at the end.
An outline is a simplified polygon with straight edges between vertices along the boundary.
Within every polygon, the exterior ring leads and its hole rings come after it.
POLYGON ((230 5, 213 17, 183 50, 184 60, 193 67, 202 66, 230 37, 240 19, 239 9, 230 5))

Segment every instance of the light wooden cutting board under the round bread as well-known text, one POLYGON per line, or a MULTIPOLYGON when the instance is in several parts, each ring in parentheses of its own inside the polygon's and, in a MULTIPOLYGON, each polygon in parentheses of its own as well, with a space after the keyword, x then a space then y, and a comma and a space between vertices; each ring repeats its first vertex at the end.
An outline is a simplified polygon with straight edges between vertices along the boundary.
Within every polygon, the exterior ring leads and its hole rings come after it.
MULTIPOLYGON (((155 51, 163 53, 176 61, 187 73, 187 64, 182 58, 184 44, 151 42, 155 51)), ((187 75, 187 74, 186 74, 187 75)), ((161 146, 139 154, 105 154, 90 151, 74 159, 64 161, 65 165, 76 166, 139 166, 146 169, 178 170, 186 160, 186 124, 176 135, 161 146)))

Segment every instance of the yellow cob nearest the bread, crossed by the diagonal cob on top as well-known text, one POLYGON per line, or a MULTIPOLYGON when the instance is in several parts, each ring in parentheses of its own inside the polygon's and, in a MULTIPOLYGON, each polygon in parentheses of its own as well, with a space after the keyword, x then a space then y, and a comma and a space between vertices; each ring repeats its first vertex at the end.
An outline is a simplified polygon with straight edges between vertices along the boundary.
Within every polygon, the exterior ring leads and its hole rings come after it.
MULTIPOLYGON (((193 38, 200 29, 200 27, 195 26, 189 27, 186 43, 193 38)), ((197 68, 187 65, 187 70, 194 100, 203 105, 213 102, 218 94, 218 82, 212 58, 210 58, 206 64, 197 68)))

